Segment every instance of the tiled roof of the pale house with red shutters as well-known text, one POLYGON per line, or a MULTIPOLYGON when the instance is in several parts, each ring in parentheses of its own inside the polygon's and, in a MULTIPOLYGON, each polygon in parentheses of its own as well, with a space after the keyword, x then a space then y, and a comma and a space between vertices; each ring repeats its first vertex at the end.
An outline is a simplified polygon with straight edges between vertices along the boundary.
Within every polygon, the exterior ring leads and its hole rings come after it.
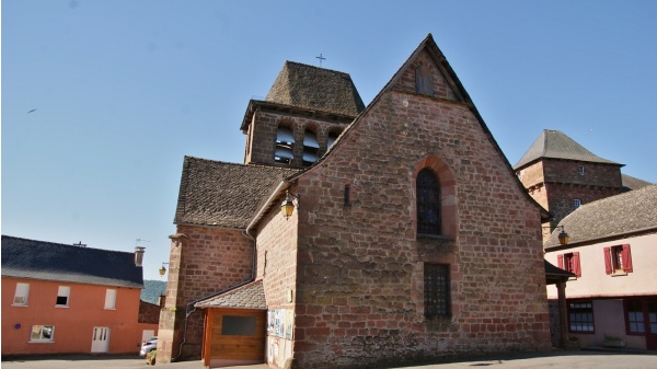
MULTIPOLYGON (((562 219, 568 244, 601 238, 622 237, 636 231, 657 231, 657 185, 585 204, 562 219)), ((545 247, 558 246, 556 229, 545 247)))

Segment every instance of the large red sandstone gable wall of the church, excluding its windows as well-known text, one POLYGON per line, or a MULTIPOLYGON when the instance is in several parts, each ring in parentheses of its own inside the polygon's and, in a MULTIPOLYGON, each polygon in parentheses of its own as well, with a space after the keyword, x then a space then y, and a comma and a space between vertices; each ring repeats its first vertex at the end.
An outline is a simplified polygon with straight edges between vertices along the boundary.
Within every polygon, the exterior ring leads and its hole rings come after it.
POLYGON ((465 105, 383 94, 299 192, 301 367, 550 348, 539 209, 465 105), (456 175, 453 239, 415 232, 413 178, 427 155, 456 175), (451 318, 424 316, 425 262, 451 265, 451 318))

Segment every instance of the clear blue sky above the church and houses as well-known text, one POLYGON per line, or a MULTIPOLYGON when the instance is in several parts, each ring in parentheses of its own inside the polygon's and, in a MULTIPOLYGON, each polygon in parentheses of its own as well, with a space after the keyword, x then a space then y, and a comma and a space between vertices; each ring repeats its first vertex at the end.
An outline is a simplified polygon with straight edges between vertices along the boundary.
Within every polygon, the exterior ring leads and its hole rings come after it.
POLYGON ((511 165, 558 129, 655 183, 656 20, 650 0, 3 0, 2 234, 147 240, 161 279, 183 157, 242 162, 285 60, 322 54, 368 104, 428 33, 511 165))

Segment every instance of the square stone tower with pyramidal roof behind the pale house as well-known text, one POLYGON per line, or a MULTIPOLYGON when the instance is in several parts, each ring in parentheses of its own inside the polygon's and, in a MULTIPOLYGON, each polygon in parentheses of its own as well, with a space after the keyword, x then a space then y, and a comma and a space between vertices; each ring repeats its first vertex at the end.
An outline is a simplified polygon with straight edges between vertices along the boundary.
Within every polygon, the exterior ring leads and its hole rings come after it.
POLYGON ((514 169, 529 194, 554 216, 543 224, 545 239, 580 205, 620 194, 621 166, 562 131, 544 129, 514 169))

